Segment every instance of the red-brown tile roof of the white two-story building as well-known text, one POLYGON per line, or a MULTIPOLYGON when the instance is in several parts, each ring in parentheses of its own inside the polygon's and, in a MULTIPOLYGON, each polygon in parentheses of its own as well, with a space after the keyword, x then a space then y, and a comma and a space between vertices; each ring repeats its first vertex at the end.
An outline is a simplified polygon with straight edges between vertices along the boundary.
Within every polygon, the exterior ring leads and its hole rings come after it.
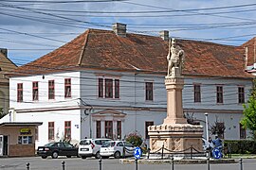
MULTIPOLYGON (((245 70, 242 47, 212 42, 179 41, 186 53, 183 74, 251 77, 245 70)), ((159 37, 88 29, 71 42, 19 67, 16 73, 44 74, 67 69, 114 69, 165 74, 168 42, 159 37)))

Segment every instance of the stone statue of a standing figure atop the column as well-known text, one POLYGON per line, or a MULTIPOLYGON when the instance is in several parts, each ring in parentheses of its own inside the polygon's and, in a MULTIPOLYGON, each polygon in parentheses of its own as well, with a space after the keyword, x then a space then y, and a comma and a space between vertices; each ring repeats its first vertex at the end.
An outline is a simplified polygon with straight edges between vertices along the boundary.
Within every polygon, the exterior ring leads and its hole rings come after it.
POLYGON ((167 76, 180 76, 184 67, 185 53, 175 39, 169 41, 167 76), (173 69, 174 68, 174 69, 173 69))

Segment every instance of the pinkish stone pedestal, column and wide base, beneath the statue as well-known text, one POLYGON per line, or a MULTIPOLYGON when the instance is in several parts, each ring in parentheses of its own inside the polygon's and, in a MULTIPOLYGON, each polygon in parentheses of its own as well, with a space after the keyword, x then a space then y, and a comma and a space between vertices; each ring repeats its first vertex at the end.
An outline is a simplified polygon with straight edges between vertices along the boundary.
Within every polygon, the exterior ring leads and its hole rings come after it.
POLYGON ((162 125, 148 127, 151 151, 157 151, 162 146, 172 152, 191 152, 193 147, 198 151, 203 150, 202 126, 193 126, 187 123, 183 115, 182 89, 184 77, 179 74, 179 68, 173 68, 174 76, 166 76, 167 90, 167 117, 162 125), (179 75, 179 76, 178 76, 179 75))

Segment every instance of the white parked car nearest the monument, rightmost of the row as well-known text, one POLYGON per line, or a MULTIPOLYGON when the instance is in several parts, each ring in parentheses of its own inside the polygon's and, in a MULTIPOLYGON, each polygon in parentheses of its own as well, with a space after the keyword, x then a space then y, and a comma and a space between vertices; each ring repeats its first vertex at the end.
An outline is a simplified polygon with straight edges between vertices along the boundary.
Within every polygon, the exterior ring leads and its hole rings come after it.
POLYGON ((110 141, 101 145, 100 155, 102 158, 133 156, 135 147, 126 141, 110 141))

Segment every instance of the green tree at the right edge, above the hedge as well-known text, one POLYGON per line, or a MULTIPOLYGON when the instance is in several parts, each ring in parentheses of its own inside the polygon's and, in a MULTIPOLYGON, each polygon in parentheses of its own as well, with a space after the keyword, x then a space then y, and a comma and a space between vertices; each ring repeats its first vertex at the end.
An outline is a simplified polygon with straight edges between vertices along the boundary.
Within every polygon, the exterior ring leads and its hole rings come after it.
POLYGON ((244 104, 244 117, 240 121, 244 128, 252 131, 252 139, 256 140, 256 79, 252 81, 252 88, 249 93, 247 104, 244 104))

